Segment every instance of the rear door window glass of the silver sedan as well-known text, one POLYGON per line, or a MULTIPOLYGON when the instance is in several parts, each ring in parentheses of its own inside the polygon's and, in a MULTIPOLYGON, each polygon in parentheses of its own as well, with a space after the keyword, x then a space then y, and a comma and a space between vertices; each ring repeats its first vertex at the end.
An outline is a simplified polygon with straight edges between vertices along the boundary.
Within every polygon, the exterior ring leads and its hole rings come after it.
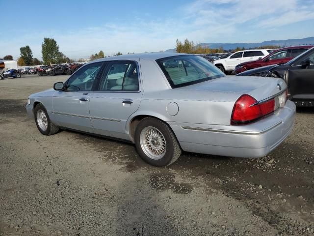
POLYGON ((138 73, 134 61, 117 61, 109 65, 99 84, 100 91, 138 91, 138 73))

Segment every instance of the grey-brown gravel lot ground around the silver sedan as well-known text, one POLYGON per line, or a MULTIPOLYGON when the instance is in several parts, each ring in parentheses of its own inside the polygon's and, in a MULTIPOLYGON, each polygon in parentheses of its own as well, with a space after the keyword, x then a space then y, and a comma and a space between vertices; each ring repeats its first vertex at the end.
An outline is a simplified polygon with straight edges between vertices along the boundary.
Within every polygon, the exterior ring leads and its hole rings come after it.
POLYGON ((264 158, 183 153, 156 168, 130 144, 41 135, 27 96, 66 78, 0 81, 0 236, 314 235, 314 109, 264 158))

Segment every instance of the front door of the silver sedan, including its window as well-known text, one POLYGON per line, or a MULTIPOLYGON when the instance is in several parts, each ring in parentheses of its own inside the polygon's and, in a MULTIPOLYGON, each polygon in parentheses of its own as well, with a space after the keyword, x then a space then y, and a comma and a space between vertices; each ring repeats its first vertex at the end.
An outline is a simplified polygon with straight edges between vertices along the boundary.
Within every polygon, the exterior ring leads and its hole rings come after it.
POLYGON ((81 67, 68 79, 64 90, 54 93, 52 109, 59 126, 92 131, 89 115, 90 92, 102 64, 103 62, 96 62, 81 67))

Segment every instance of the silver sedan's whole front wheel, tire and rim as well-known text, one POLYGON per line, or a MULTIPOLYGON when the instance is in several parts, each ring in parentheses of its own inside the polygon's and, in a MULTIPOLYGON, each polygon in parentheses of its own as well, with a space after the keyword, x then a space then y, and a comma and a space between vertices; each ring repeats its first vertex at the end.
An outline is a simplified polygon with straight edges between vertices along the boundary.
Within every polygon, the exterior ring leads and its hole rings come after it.
POLYGON ((52 135, 59 131, 59 127, 52 123, 46 108, 42 104, 35 107, 34 117, 37 128, 43 135, 52 135))

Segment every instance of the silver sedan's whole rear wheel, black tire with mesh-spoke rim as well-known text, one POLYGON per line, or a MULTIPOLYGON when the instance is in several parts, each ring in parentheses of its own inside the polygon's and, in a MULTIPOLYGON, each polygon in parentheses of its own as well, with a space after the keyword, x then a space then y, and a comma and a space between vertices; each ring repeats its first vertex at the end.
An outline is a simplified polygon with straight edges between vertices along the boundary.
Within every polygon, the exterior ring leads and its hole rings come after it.
POLYGON ((153 166, 168 166, 181 155, 174 133, 159 119, 142 119, 136 127, 134 139, 140 157, 153 166))

